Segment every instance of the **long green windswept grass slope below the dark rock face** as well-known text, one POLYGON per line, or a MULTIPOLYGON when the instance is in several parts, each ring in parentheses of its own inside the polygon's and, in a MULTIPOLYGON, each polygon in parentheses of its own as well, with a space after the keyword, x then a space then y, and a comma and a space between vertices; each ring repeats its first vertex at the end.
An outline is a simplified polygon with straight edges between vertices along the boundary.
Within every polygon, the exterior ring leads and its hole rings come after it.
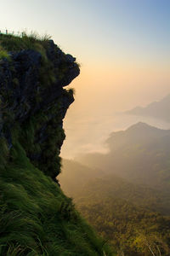
POLYGON ((19 143, 7 156, 0 172, 1 256, 113 255, 19 143))

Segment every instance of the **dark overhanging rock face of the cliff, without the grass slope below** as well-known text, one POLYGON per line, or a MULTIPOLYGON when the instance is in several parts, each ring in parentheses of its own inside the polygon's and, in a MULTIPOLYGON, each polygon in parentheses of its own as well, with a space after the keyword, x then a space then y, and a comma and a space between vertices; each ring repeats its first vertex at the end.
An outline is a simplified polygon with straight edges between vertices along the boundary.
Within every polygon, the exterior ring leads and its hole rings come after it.
POLYGON ((63 119, 74 101, 73 91, 64 87, 80 70, 76 58, 53 40, 33 44, 33 49, 10 51, 0 61, 0 137, 10 149, 17 130, 31 162, 55 179, 65 139, 63 119))

